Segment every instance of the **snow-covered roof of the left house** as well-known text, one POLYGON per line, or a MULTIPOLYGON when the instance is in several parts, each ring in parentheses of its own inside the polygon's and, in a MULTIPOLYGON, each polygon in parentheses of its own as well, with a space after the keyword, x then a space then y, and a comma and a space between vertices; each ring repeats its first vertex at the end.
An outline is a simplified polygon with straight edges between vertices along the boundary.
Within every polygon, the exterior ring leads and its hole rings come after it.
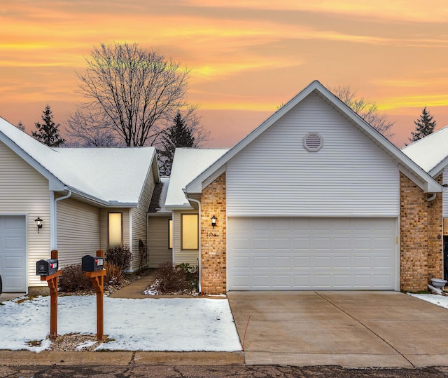
POLYGON ((0 119, 0 141, 49 181, 104 206, 134 207, 146 178, 159 180, 154 147, 48 147, 0 119))

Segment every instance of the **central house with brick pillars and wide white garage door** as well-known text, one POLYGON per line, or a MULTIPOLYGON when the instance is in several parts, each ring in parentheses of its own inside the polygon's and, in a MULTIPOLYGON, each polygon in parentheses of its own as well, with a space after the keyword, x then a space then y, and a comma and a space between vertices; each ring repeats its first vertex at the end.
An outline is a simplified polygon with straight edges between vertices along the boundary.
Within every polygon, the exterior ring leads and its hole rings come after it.
POLYGON ((193 151, 176 151, 161 207, 172 261, 200 257, 204 292, 417 291, 441 278, 441 179, 318 81, 232 149, 193 151))

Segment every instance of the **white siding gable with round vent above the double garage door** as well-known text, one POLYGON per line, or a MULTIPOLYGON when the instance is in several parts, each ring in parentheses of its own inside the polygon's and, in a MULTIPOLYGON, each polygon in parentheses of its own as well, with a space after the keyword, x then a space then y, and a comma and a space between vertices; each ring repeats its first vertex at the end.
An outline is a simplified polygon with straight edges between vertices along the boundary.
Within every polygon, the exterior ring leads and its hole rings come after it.
POLYGON ((227 163, 228 216, 386 216, 400 212, 398 165, 316 95, 227 163), (303 147, 318 133, 322 148, 303 147))

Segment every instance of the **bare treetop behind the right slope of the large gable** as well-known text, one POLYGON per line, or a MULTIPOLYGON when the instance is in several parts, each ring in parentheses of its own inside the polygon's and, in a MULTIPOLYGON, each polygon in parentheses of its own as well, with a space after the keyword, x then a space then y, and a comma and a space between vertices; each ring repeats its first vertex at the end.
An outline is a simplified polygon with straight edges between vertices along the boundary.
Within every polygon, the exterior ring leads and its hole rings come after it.
POLYGON ((339 97, 339 100, 344 102, 353 112, 358 114, 388 140, 391 140, 393 135, 395 135, 392 131, 395 122, 388 121, 386 114, 380 114, 375 102, 365 97, 356 97, 356 92, 351 90, 350 86, 335 86, 330 88, 330 90, 335 96, 339 97))

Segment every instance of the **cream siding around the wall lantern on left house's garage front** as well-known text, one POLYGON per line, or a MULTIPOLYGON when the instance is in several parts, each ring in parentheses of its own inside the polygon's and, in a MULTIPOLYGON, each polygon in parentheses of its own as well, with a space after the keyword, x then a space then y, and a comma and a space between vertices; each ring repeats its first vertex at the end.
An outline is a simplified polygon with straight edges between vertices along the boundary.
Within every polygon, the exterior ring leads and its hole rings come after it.
POLYGON ((0 161, 0 215, 27 216, 27 285, 48 286, 36 276, 36 261, 50 258, 48 180, 1 142, 0 161), (43 220, 40 233, 36 217, 43 220))

